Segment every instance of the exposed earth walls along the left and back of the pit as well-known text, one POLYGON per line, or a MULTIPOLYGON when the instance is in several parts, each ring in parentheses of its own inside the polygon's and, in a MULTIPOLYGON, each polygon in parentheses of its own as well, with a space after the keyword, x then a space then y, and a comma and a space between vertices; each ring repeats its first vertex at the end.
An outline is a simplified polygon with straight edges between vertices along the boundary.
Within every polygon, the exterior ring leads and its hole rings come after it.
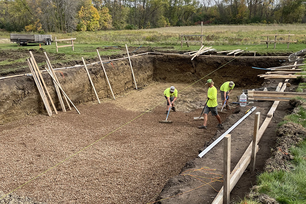
MULTIPOLYGON (((189 57, 171 55, 143 55, 131 58, 136 83, 145 87, 154 82, 191 84, 211 73, 198 85, 208 79, 213 79, 219 87, 224 81, 234 81, 241 89, 257 88, 263 83, 263 78, 257 77, 265 70, 252 69, 255 67, 272 67, 281 64, 280 58, 233 58, 197 57, 193 61, 189 57), (225 65, 226 64, 226 65, 225 65)), ((111 92, 105 80, 100 65, 88 67, 96 91, 100 98, 111 98, 111 92)), ((110 84, 115 95, 121 95, 134 89, 131 70, 127 60, 113 61, 105 64, 110 84)), ((75 105, 85 104, 96 100, 84 68, 58 70, 58 80, 75 105)), ((56 108, 60 104, 50 76, 43 73, 51 97, 56 108)), ((32 76, 21 76, 1 80, 0 83, 0 124, 14 121, 27 116, 46 114, 43 102, 35 86, 32 76)))

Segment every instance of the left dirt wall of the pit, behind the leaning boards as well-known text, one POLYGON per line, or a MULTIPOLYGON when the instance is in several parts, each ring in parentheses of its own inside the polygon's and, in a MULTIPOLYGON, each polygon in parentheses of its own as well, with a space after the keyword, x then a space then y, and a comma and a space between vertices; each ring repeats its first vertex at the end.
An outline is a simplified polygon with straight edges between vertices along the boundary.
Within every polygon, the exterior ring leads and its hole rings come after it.
MULTIPOLYGON (((137 59, 135 57, 132 58, 131 61, 137 86, 143 87, 151 83, 153 77, 153 64, 145 57, 138 57, 137 59)), ((104 67, 115 95, 135 88, 132 81, 131 69, 127 60, 114 61, 112 64, 107 63, 104 64, 104 67)), ((88 70, 100 100, 105 97, 112 98, 101 65, 88 67, 88 70)), ((63 90, 75 105, 96 100, 84 68, 62 69, 55 72, 63 90)), ((43 78, 56 108, 61 110, 50 76, 46 72, 43 72, 43 78)), ((21 76, 1 80, 0 124, 20 119, 28 115, 37 114, 47 113, 32 76, 21 76)))

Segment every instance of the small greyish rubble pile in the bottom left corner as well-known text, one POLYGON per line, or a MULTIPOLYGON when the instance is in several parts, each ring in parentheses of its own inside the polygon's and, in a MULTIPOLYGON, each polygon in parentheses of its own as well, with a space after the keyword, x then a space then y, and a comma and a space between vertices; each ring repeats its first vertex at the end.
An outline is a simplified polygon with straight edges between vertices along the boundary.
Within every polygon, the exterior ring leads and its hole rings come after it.
MULTIPOLYGON (((0 197, 6 195, 0 191, 0 197)), ((1 204, 46 204, 46 202, 39 202, 28 196, 19 196, 16 193, 10 193, 6 195, 0 202, 1 204)))

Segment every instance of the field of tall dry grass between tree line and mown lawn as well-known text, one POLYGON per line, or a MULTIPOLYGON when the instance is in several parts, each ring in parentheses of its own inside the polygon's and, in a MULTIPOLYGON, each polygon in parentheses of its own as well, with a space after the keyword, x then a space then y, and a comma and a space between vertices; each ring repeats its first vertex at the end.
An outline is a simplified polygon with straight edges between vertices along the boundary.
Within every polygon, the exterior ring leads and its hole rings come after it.
MULTIPOLYGON (((306 44, 306 24, 253 24, 253 25, 207 25, 203 26, 203 43, 207 45, 256 45, 266 39, 260 34, 288 34, 292 40, 306 44)), ((22 32, 25 33, 25 32, 22 32)), ((58 39, 76 38, 81 44, 130 44, 130 45, 180 45, 180 34, 200 34, 201 26, 181 26, 141 30, 118 30, 97 32, 50 33, 58 39)), ((49 33, 48 33, 49 34, 49 33)), ((0 43, 8 43, 9 32, 0 32, 0 43)), ((279 37, 278 39, 287 39, 279 37)))

